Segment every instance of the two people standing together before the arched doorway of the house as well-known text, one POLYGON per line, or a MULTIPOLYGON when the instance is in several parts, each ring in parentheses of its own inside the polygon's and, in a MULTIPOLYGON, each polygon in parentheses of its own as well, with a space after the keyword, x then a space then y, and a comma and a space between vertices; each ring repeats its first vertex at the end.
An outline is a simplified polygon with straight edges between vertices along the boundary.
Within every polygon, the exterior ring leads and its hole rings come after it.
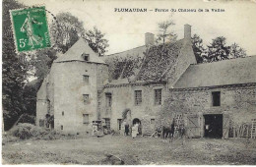
POLYGON ((122 134, 124 136, 132 135, 132 138, 135 139, 140 134, 141 124, 136 123, 132 127, 130 127, 130 125, 126 121, 124 121, 121 126, 121 130, 123 131, 122 134))

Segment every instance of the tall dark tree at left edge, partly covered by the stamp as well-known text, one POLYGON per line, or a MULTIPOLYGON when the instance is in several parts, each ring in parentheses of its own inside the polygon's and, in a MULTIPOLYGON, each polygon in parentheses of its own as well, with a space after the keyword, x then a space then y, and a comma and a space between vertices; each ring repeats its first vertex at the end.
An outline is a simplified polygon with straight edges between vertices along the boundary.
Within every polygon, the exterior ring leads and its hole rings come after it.
POLYGON ((3 1, 3 119, 4 129, 9 130, 23 112, 23 87, 26 83, 28 68, 25 54, 15 52, 14 36, 9 10, 24 8, 15 0, 3 1))

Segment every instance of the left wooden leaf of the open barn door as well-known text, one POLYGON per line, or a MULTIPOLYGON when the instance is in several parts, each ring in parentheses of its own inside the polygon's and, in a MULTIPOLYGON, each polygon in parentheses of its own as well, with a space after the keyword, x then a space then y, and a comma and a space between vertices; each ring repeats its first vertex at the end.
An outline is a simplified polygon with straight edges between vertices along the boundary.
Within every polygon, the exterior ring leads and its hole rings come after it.
POLYGON ((201 137, 200 116, 198 114, 187 115, 187 136, 188 138, 201 137))

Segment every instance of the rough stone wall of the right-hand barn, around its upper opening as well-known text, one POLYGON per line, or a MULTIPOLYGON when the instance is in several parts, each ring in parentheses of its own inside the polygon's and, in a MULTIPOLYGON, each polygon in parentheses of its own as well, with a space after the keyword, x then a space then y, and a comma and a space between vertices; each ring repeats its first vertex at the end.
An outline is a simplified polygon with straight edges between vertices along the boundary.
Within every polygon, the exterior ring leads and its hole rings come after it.
POLYGON ((226 86, 194 90, 170 89, 161 118, 171 120, 176 113, 226 114, 235 125, 256 118, 256 86, 226 86), (221 91, 221 106, 213 106, 212 91, 221 91))

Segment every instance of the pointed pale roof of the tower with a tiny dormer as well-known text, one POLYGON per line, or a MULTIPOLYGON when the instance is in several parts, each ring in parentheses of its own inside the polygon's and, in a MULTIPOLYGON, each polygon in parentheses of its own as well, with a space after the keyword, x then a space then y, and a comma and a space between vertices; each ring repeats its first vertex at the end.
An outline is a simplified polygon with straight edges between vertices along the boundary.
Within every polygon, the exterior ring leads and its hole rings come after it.
POLYGON ((85 61, 82 57, 83 53, 90 55, 88 62, 105 64, 102 58, 98 57, 98 54, 83 38, 80 38, 66 53, 60 55, 54 62, 85 61))

